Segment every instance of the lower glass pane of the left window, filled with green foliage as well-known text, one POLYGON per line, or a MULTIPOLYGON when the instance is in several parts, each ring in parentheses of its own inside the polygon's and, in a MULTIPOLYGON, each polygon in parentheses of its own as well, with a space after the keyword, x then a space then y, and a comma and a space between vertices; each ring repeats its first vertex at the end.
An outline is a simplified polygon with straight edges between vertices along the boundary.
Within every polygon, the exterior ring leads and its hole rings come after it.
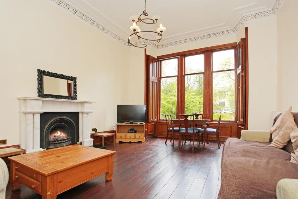
POLYGON ((161 119, 165 119, 164 115, 172 115, 176 118, 177 110, 177 78, 161 79, 161 119))

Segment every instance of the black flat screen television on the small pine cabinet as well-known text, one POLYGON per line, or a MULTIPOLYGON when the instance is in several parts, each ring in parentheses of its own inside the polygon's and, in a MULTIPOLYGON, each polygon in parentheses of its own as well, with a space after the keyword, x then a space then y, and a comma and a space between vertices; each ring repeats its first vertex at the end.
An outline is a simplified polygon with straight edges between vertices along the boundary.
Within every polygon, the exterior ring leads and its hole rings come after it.
POLYGON ((145 122, 146 105, 118 105, 117 122, 145 122))

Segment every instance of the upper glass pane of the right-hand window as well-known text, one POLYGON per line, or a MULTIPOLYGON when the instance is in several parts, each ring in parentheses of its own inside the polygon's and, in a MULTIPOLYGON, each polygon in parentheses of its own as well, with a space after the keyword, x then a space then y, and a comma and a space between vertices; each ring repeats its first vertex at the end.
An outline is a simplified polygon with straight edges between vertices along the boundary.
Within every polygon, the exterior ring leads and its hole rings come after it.
POLYGON ((234 69, 234 49, 212 53, 213 71, 234 69))

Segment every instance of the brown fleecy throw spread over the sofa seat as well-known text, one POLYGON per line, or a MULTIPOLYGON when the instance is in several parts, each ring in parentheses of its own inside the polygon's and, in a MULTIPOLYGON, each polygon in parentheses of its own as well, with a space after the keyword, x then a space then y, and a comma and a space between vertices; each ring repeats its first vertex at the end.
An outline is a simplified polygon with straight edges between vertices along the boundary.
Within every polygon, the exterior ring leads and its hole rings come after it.
POLYGON ((298 164, 290 162, 290 153, 268 144, 226 139, 218 199, 276 199, 280 179, 298 178, 298 164))

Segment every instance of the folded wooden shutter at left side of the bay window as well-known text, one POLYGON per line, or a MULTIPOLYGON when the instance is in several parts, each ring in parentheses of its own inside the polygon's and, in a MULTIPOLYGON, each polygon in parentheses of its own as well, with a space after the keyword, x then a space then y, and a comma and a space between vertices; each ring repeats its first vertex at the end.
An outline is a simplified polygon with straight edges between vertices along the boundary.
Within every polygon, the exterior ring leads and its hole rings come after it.
POLYGON ((159 72, 159 61, 157 58, 148 55, 148 102, 147 102, 147 117, 148 121, 158 120, 158 96, 159 96, 159 84, 158 78, 159 72))

